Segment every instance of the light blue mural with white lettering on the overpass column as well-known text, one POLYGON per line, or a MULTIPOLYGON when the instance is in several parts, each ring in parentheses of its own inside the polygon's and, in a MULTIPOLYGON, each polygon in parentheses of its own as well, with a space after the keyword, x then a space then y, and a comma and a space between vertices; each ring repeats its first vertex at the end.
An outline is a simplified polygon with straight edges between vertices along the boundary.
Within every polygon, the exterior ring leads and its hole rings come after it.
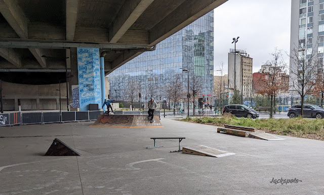
POLYGON ((88 111, 89 104, 101 108, 99 48, 78 47, 77 68, 80 111, 88 111))

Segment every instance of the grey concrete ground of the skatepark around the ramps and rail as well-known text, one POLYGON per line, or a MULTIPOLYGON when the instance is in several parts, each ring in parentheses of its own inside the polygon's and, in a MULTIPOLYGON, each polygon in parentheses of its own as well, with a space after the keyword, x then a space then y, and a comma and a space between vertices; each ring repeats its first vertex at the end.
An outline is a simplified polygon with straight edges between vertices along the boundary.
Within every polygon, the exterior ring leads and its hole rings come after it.
MULTIPOLYGON (((161 117, 162 118, 162 117, 161 117)), ((267 141, 215 126, 161 119, 164 128, 100 128, 93 122, 0 128, 0 194, 323 194, 324 141, 267 141), (82 154, 44 156, 57 137, 82 154), (221 158, 170 153, 206 145, 221 158), (294 183, 270 183, 273 179, 294 183), (296 183, 296 180, 299 180, 296 183)))

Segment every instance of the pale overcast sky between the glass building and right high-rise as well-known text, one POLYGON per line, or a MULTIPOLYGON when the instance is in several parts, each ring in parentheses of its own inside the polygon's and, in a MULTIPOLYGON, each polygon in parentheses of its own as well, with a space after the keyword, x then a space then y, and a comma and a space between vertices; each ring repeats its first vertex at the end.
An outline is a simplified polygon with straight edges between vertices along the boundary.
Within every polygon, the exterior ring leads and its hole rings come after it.
MULTIPOLYGON (((246 50, 253 58, 253 72, 271 60, 274 48, 282 50, 285 62, 290 50, 291 0, 229 0, 214 10, 214 70, 224 62, 227 74, 228 52, 246 50)), ((219 72, 215 72, 219 75, 219 72)))

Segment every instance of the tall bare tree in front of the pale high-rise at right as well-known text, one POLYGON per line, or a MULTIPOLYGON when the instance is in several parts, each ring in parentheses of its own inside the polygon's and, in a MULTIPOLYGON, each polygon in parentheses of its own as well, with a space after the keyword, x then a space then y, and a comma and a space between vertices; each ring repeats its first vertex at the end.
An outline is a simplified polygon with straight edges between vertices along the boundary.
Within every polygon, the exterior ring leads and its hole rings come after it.
MULTIPOLYGON (((299 41, 301 42, 301 40, 299 41)), ((291 62, 290 85, 301 97, 301 116, 304 115, 304 97, 311 94, 316 83, 316 73, 318 71, 317 52, 323 53, 319 47, 317 50, 317 47, 307 48, 306 45, 304 38, 304 43, 299 43, 299 46, 295 45, 289 56, 291 62)))

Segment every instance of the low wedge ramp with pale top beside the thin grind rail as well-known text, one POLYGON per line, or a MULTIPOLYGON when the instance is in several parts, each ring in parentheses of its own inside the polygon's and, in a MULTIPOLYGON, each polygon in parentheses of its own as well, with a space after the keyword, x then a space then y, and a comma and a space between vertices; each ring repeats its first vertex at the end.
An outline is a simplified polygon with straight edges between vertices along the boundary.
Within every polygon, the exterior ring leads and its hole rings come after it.
POLYGON ((235 155, 235 153, 221 151, 218 149, 207 147, 206 145, 196 145, 193 147, 182 147, 182 153, 192 154, 192 155, 209 156, 209 157, 217 157, 217 158, 235 155))

